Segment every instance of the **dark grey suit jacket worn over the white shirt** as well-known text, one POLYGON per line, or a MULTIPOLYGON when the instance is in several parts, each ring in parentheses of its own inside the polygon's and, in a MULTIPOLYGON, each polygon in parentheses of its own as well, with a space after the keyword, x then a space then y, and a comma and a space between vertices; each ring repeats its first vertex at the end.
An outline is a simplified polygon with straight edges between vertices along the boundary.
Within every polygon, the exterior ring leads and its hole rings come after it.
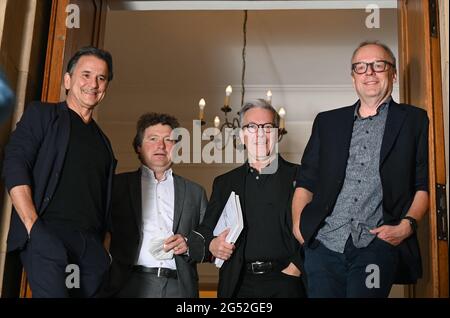
MULTIPOLYGON (((205 251, 203 238, 192 232, 202 221, 207 199, 198 184, 173 174, 175 211, 173 233, 188 237, 189 256, 175 255, 178 282, 183 297, 198 297, 196 262, 205 251), (201 241, 201 244, 191 244, 201 241)), ((139 257, 142 242, 141 170, 116 175, 113 187, 110 253, 113 259, 102 296, 114 296, 124 286, 139 257)))

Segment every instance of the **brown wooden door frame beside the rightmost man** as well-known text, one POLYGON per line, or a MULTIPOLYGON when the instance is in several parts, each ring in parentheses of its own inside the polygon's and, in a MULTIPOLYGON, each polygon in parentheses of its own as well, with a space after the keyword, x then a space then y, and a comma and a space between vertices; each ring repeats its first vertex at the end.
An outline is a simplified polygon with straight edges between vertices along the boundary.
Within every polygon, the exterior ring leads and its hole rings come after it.
MULTIPOLYGON (((410 34, 408 28, 408 11, 407 6, 414 5, 422 9, 423 23, 421 26, 424 31, 423 35, 423 51, 425 60, 423 61, 425 68, 424 83, 426 85, 426 94, 424 107, 428 113, 430 120, 429 126, 429 193, 430 208, 427 215, 429 221, 429 247, 431 252, 431 295, 432 297, 448 297, 448 238, 438 239, 437 228, 438 222, 438 204, 437 204, 437 188, 446 184, 445 172, 445 141, 444 141, 444 120, 443 120, 443 101, 442 101, 442 75, 441 75, 441 50, 439 40, 439 23, 435 33, 437 36, 431 35, 430 27, 430 0, 399 0, 398 16, 399 16, 399 60, 400 74, 403 75, 400 80, 401 101, 405 103, 414 103, 411 99, 411 73, 414 72, 414 64, 411 63, 411 55, 409 41, 412 37, 420 35, 410 34)), ((439 19, 438 8, 435 8, 436 19, 439 19)), ((438 20, 437 20, 438 21, 438 20)), ((446 215, 445 215, 446 217, 446 215)), ((416 294, 414 286, 410 288, 410 295, 416 294)))

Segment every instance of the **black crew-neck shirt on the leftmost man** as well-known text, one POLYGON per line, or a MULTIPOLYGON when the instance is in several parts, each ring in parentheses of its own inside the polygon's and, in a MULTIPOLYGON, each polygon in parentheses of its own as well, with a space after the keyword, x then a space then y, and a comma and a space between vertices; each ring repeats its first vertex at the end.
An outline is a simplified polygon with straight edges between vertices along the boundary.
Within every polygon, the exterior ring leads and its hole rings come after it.
POLYGON ((99 232, 105 222, 111 158, 94 120, 84 123, 70 113, 70 139, 61 177, 43 219, 67 227, 99 232))

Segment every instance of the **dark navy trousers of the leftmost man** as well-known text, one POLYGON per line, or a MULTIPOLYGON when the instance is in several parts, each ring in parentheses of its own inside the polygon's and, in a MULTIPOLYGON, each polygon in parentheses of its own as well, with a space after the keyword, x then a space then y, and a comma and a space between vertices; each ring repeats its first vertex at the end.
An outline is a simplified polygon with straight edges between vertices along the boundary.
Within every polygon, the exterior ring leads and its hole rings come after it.
POLYGON ((94 297, 110 264, 99 235, 42 219, 20 257, 33 298, 94 297))

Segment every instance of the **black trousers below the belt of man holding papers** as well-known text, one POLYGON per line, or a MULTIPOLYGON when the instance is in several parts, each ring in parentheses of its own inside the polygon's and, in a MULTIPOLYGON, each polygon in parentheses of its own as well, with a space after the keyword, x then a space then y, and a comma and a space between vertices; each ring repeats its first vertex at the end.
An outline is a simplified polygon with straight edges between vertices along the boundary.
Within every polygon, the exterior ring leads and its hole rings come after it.
POLYGON ((240 279, 237 298, 304 298, 302 277, 273 271, 265 274, 244 273, 240 279))

